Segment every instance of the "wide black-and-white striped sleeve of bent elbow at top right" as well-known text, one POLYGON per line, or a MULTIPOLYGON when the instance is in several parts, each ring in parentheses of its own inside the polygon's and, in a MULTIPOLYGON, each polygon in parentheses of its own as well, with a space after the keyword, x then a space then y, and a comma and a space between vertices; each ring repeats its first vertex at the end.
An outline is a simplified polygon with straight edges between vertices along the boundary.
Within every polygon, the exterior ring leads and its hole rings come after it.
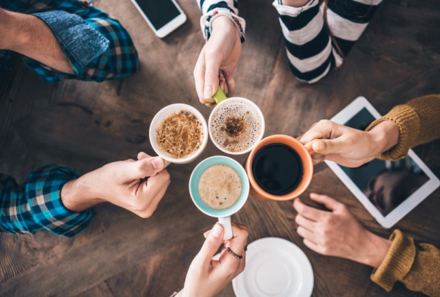
POLYGON ((358 40, 381 0, 328 0, 326 22, 319 0, 305 6, 272 5, 279 13, 290 69, 298 80, 315 83, 344 56, 358 40), (364 2, 369 1, 370 5, 364 2), (333 40, 331 38, 333 35, 333 40))

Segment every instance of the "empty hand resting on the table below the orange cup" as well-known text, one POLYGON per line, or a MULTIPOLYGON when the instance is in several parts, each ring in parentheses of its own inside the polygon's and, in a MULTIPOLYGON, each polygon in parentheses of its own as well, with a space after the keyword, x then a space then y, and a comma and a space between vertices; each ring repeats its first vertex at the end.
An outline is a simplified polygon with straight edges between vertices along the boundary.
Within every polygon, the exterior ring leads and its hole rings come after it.
POLYGON ((298 212, 295 218, 297 232, 308 248, 322 255, 343 257, 373 267, 382 263, 391 241, 366 230, 345 205, 335 199, 318 194, 310 194, 310 198, 324 204, 330 212, 294 199, 293 207, 298 212))

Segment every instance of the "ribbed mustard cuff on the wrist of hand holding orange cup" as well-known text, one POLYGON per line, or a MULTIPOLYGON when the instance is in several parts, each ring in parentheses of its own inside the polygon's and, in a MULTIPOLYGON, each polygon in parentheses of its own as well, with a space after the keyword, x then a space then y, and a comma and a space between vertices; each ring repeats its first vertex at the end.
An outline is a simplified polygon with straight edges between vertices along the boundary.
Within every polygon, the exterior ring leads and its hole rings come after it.
POLYGON ((419 115, 414 108, 408 105, 397 105, 390 112, 385 114, 384 117, 373 121, 365 130, 369 131, 373 129, 382 123, 382 121, 393 121, 400 130, 400 136, 398 144, 389 151, 381 153, 378 159, 399 160, 405 158, 420 133, 421 121, 419 115))

